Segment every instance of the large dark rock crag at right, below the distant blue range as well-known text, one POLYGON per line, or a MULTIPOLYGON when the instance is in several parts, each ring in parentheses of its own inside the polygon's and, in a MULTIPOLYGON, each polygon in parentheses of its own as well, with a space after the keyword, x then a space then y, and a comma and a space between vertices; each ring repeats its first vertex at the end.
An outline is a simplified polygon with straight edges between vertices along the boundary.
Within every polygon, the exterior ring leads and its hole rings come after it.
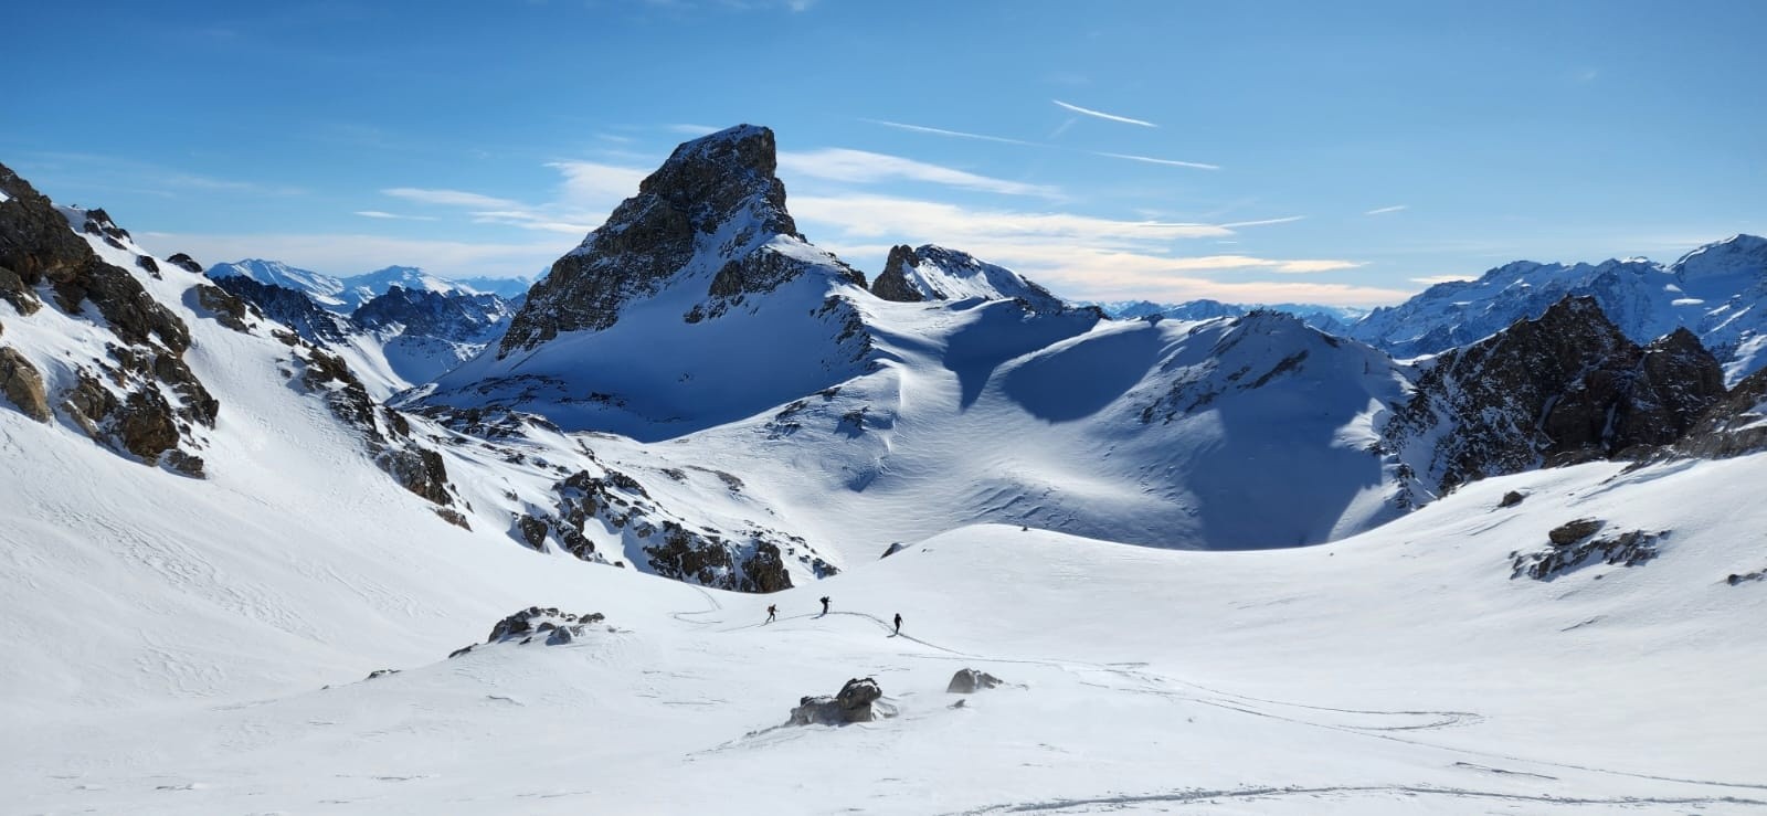
POLYGON ((1541 463, 1638 456, 1677 440, 1723 394, 1718 360, 1693 334, 1640 348, 1592 298, 1566 298, 1437 357, 1384 445, 1445 493, 1541 463), (1437 429, 1431 447, 1408 449, 1437 429))

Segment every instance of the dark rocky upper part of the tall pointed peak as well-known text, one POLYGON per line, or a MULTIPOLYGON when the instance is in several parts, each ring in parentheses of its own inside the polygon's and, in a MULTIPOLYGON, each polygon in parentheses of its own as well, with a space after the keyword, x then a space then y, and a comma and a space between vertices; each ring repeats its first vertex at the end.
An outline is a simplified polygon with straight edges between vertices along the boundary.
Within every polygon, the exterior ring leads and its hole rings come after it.
POLYGON ((553 263, 504 336, 498 357, 560 332, 603 330, 622 307, 687 279, 707 279, 687 323, 716 318, 746 295, 823 268, 864 276, 799 235, 767 127, 737 125, 675 148, 583 244, 553 263))

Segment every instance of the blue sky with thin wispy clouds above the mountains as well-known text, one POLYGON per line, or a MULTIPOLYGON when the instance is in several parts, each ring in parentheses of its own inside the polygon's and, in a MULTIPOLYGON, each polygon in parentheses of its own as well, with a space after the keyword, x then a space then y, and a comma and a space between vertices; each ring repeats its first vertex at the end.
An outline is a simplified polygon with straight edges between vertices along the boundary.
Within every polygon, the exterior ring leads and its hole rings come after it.
POLYGON ((809 240, 1078 298, 1396 302, 1767 231, 1762 2, 80 2, 0 162, 161 254, 532 276, 675 143, 776 131, 809 240))

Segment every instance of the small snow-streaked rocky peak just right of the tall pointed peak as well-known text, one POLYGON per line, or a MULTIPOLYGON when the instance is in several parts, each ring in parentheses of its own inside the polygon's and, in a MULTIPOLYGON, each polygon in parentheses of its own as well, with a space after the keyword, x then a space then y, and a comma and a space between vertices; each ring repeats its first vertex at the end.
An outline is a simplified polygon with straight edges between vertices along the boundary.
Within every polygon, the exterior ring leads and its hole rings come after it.
POLYGON ((933 244, 889 251, 871 293, 885 300, 1025 300, 1034 311, 1060 311, 1067 304, 1005 267, 933 244))

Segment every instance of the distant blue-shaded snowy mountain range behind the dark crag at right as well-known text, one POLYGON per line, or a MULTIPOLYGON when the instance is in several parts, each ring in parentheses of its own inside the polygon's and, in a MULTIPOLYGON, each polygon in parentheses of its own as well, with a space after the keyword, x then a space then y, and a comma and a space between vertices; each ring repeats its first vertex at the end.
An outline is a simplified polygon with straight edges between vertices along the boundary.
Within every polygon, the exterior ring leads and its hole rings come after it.
MULTIPOLYGON (((1375 309, 1350 336, 1398 357, 1438 353, 1532 320, 1566 297, 1592 297, 1634 343, 1693 330, 1725 364, 1728 383, 1758 369, 1767 314, 1767 238, 1737 235, 1663 267, 1643 258, 1603 263, 1514 261, 1477 281, 1442 283, 1375 309)), ((1767 362, 1767 359, 1762 359, 1767 362)))

